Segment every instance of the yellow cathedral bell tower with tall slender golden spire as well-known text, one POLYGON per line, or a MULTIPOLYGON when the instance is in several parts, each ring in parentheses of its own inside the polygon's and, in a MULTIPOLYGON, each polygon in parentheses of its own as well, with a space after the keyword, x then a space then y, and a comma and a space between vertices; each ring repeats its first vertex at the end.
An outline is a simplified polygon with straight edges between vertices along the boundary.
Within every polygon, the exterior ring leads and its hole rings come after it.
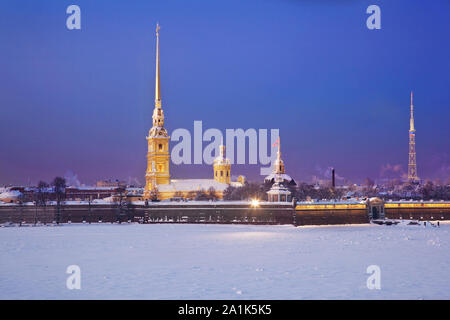
POLYGON ((144 197, 148 199, 159 184, 169 184, 169 140, 164 128, 164 111, 161 107, 161 82, 159 77, 159 24, 156 25, 156 79, 153 126, 147 136, 147 171, 145 173, 144 197))

